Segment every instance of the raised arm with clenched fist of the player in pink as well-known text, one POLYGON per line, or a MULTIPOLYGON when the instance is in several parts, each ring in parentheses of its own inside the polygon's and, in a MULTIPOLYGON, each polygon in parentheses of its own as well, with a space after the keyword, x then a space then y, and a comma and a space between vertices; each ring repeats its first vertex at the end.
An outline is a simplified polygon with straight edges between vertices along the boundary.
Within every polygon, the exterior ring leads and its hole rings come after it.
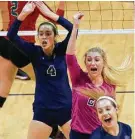
POLYGON ((76 45, 76 37, 78 33, 79 23, 80 19, 83 16, 81 12, 78 12, 74 15, 74 25, 73 30, 68 42, 67 51, 66 51, 66 62, 67 67, 69 70, 70 78, 72 81, 72 85, 75 86, 78 83, 78 80, 80 80, 81 75, 83 74, 82 69, 80 68, 75 53, 75 45, 76 45))

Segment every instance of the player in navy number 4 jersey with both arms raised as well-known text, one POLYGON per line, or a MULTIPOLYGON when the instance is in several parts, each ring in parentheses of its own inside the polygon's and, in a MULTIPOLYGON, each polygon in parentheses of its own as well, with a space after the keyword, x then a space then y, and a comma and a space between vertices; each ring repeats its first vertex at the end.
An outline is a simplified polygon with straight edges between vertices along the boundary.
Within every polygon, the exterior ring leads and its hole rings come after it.
POLYGON ((29 127, 28 139, 48 139, 53 125, 61 126, 66 138, 69 138, 72 95, 65 53, 71 31, 72 24, 51 12, 41 1, 28 2, 9 29, 8 37, 29 56, 36 76, 34 116, 29 127), (38 47, 17 36, 21 23, 34 11, 34 3, 43 15, 68 30, 69 33, 62 42, 56 42, 58 31, 51 22, 39 25, 40 46, 38 47))

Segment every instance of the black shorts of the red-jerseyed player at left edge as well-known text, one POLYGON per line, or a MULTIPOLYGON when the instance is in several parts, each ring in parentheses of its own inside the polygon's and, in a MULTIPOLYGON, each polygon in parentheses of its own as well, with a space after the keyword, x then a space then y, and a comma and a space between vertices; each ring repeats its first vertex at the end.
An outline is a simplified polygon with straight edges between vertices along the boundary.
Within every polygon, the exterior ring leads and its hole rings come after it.
POLYGON ((16 44, 4 37, 0 37, 0 56, 11 60, 18 68, 22 68, 30 63, 28 56, 16 44))

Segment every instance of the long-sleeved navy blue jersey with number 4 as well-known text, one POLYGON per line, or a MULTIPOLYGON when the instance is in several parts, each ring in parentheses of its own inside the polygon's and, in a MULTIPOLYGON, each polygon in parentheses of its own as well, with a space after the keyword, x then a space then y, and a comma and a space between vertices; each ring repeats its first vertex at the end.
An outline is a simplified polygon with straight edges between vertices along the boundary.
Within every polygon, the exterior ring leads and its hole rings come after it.
POLYGON ((16 19, 8 31, 9 39, 18 44, 33 65, 36 76, 34 106, 46 109, 71 108, 72 104, 65 53, 73 25, 63 17, 59 17, 57 23, 67 29, 68 34, 62 42, 55 44, 51 57, 40 46, 28 43, 17 35, 21 21, 16 19))

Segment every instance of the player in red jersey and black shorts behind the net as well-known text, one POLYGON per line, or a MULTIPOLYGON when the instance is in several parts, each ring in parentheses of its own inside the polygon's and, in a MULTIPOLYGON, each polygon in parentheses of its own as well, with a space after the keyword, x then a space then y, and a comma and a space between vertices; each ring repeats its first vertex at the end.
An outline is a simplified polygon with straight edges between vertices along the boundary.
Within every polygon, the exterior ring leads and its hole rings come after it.
MULTIPOLYGON (((26 3, 27 1, 0 2, 0 6, 1 6, 0 9, 2 10, 1 13, 4 20, 2 30, 7 30, 11 26, 12 22, 16 19, 17 15, 21 12, 22 8, 26 3)), ((64 15, 64 2, 60 2, 59 8, 56 13, 59 14, 60 16, 64 15)), ((35 30, 35 24, 39 14, 40 14, 39 10, 36 8, 35 11, 31 15, 29 15, 29 18, 25 19, 20 30, 23 31, 35 30)), ((47 19, 51 20, 48 17, 47 19)), ((22 38, 25 41, 30 41, 31 43, 35 43, 34 36, 22 36, 22 38)), ((14 77, 17 72, 17 68, 22 68, 28 65, 29 63, 30 60, 27 54, 19 50, 15 43, 11 43, 7 38, 0 36, 0 65, 1 65, 0 67, 0 103, 1 103, 0 106, 1 107, 3 106, 6 97, 9 94, 11 85, 13 83, 14 77)), ((23 75, 25 76, 21 78, 29 79, 29 76, 27 76, 24 73, 23 75)))

